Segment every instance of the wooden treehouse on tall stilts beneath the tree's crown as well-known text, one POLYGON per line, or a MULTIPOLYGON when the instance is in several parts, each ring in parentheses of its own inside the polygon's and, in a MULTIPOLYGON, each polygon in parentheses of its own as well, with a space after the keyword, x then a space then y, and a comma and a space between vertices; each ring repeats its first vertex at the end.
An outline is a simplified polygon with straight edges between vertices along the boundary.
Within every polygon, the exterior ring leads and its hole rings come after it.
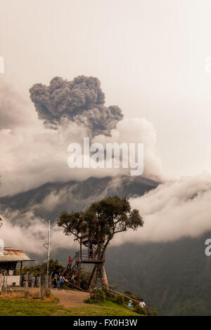
POLYGON ((72 275, 75 275, 76 285, 70 283, 79 289, 80 287, 80 272, 83 263, 93 264, 94 268, 91 272, 89 279, 89 288, 96 287, 98 279, 101 280, 102 286, 108 287, 108 280, 106 270, 104 268, 105 253, 103 247, 105 239, 98 241, 96 235, 89 235, 88 233, 82 234, 79 239, 79 251, 75 253, 72 258, 71 267, 67 265, 63 271, 63 275, 71 282, 72 275))

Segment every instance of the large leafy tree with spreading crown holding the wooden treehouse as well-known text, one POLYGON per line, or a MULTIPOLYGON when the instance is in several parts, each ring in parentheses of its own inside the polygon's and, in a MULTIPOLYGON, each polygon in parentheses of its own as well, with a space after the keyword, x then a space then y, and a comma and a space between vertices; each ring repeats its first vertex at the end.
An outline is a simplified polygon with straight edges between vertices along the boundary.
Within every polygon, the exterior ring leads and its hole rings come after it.
MULTIPOLYGON (((57 224, 63 227, 65 235, 74 235, 77 240, 84 233, 89 237, 95 237, 98 260, 104 260, 106 248, 114 235, 128 229, 137 230, 143 227, 143 218, 139 210, 132 209, 127 199, 115 196, 91 204, 86 211, 64 211, 60 214, 57 224)), ((90 283, 92 287, 95 286, 98 276, 106 278, 107 282, 103 264, 94 268, 90 283)))

